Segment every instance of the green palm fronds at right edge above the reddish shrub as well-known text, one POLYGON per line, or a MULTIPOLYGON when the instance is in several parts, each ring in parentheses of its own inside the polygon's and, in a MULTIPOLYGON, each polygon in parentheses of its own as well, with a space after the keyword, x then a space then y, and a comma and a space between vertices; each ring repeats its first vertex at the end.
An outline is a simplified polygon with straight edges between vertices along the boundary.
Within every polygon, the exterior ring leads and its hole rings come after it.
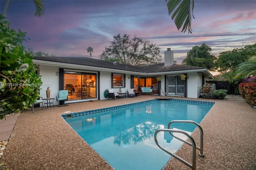
POLYGON ((246 78, 251 75, 256 75, 256 55, 238 65, 235 78, 246 78))

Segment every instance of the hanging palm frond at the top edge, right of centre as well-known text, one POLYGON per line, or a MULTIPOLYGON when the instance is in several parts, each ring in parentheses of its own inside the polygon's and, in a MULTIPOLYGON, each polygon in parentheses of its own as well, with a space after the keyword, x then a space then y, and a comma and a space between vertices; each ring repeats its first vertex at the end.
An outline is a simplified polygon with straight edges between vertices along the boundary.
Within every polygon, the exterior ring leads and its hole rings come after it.
POLYGON ((184 31, 185 33, 188 29, 188 34, 192 34, 191 18, 193 16, 194 0, 165 0, 165 2, 167 2, 169 15, 173 12, 172 20, 175 18, 174 23, 177 29, 180 30, 183 25, 181 32, 184 31))

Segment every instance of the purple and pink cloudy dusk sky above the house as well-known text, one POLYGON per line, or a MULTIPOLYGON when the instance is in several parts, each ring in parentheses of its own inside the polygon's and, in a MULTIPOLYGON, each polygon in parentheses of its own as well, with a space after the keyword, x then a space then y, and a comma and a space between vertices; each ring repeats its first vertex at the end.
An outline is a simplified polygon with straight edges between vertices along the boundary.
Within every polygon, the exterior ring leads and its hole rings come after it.
MULTIPOLYGON (((3 12, 5 0, 0 0, 3 12)), ((168 47, 178 64, 195 45, 212 53, 256 43, 256 0, 195 0, 192 34, 177 30, 165 0, 43 0, 42 18, 34 17, 34 3, 10 0, 6 17, 14 30, 26 32, 23 45, 55 56, 98 59, 113 36, 128 34, 168 47)))

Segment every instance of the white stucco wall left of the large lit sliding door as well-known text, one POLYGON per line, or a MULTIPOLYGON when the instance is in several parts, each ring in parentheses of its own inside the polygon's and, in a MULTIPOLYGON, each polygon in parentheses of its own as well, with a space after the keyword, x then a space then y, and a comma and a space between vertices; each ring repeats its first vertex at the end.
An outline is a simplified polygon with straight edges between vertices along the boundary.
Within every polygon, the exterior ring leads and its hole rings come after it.
POLYGON ((59 71, 59 67, 40 65, 39 75, 41 75, 42 85, 40 86, 40 97, 46 98, 46 89, 50 87, 50 97, 54 98, 54 105, 58 105, 59 102, 56 101, 56 96, 58 96, 59 91, 59 76, 56 72, 59 71))

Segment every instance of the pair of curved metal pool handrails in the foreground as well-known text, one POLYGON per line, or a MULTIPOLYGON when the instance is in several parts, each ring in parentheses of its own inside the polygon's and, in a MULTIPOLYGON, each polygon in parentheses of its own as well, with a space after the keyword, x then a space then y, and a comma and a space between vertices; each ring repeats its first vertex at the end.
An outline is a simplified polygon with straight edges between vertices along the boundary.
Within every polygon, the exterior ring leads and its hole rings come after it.
POLYGON ((200 154, 199 156, 200 157, 204 157, 204 154, 203 154, 203 130, 201 128, 201 126, 194 122, 194 121, 184 121, 184 120, 175 120, 175 121, 170 121, 170 123, 168 124, 168 129, 158 129, 156 130, 155 134, 154 134, 154 140, 156 142, 156 145, 164 150, 166 153, 172 155, 174 158, 177 158, 178 160, 180 160, 181 162, 183 162, 184 164, 186 164, 187 166, 189 166, 190 168, 192 168, 192 170, 196 170, 196 149, 200 150, 200 154), (172 123, 193 123, 194 125, 196 125, 199 130, 200 130, 200 148, 198 146, 196 146, 196 143, 194 141, 194 139, 186 132, 184 132, 183 130, 175 130, 175 129, 170 129, 170 125, 172 123), (167 150, 166 148, 164 148, 163 146, 161 146, 158 141, 157 141, 157 138, 156 138, 156 135, 158 132, 161 132, 161 131, 164 131, 164 132, 169 132, 173 137, 177 138, 178 140, 181 140, 182 142, 186 143, 186 144, 189 144, 190 146, 192 146, 192 164, 186 162, 185 160, 183 160, 182 158, 180 158, 179 156, 175 155, 174 153, 170 152, 169 150, 167 150), (179 138, 178 136, 175 136, 172 132, 178 132, 178 133, 182 133, 182 134, 185 134, 189 140, 191 141, 188 142, 186 140, 183 140, 181 138, 179 138))

